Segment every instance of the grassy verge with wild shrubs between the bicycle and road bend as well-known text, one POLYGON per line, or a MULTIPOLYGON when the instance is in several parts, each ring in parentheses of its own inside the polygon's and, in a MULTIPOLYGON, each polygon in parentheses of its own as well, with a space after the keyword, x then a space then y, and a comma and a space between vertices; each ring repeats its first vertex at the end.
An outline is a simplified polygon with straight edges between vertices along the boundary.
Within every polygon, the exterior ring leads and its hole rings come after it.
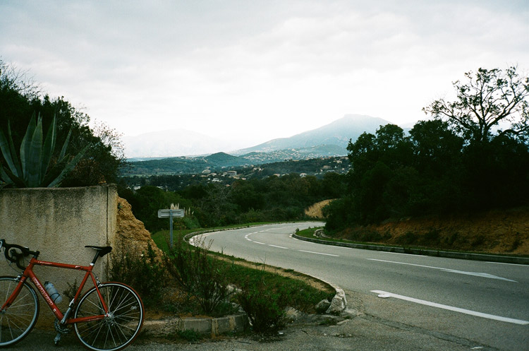
MULTIPOLYGON (((109 278, 119 278, 144 297, 148 311, 177 316, 224 316, 243 310, 253 331, 270 333, 284 326, 285 309, 315 313, 322 299, 331 299, 330 287, 312 287, 271 271, 265 264, 247 263, 209 253, 204 243, 191 246, 176 235, 169 249, 167 233, 154 234, 163 257, 149 247, 140 257, 114 254, 109 278)), ((274 269, 275 270, 275 269, 274 269)), ((293 275, 293 272, 291 272, 293 275)))

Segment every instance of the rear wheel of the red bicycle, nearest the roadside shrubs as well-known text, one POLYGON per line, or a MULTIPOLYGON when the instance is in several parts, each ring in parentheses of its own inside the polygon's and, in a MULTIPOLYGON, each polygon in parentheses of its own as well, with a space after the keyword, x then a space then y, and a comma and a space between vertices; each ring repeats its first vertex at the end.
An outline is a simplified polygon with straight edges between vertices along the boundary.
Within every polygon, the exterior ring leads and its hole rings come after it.
MULTIPOLYGON (((109 307, 109 316, 99 321, 75 323, 79 341, 92 350, 121 350, 140 333, 145 312, 138 293, 121 282, 105 282, 99 291, 109 307)), ((96 288, 79 300, 73 318, 104 314, 96 288)))

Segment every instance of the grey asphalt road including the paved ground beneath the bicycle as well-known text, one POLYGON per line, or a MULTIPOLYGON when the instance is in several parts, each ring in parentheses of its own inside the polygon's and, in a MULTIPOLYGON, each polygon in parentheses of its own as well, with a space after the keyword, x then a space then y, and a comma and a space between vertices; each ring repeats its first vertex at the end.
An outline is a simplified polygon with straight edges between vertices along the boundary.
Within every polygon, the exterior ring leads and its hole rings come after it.
MULTIPOLYGON (((273 340, 237 335, 174 343, 144 336, 126 350, 529 350, 529 266, 347 249, 290 236, 317 225, 265 225, 203 238, 224 254, 339 285, 348 307, 359 312, 355 318, 336 326, 289 326, 273 340)), ((55 347, 54 335, 34 330, 10 349, 85 350, 72 333, 55 347)))

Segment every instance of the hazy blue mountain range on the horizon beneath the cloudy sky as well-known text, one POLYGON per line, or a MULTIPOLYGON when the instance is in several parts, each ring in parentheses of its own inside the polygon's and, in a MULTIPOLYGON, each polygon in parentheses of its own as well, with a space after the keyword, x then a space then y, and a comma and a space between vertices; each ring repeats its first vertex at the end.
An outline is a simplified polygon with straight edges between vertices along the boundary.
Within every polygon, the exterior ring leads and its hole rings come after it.
MULTIPOLYGON (((131 169, 128 174, 186 174, 202 172, 205 168, 226 168, 243 165, 263 165, 270 162, 284 160, 308 160, 318 157, 336 157, 347 155, 347 145, 350 140, 355 141, 360 134, 367 131, 375 133, 381 125, 389 121, 375 117, 346 114, 330 124, 312 131, 305 131, 290 138, 278 138, 251 148, 231 151, 228 153, 204 152, 205 156, 193 157, 137 157, 128 159, 131 169), (162 158, 162 160, 160 160, 162 158)), ((171 131, 169 131, 170 133, 171 131)), ((202 145, 201 150, 214 146, 214 141, 200 134, 188 134, 188 138, 196 138, 191 142, 202 145)), ((144 134, 142 138, 129 139, 138 143, 138 150, 163 150, 168 148, 167 140, 160 133, 144 134), (152 143, 152 145, 150 144, 152 143), (142 146, 143 145, 143 146, 142 146)), ((178 148, 178 139, 171 141, 171 150, 178 148)), ((187 145, 190 147, 190 145, 187 145)), ((197 149, 195 149, 197 150, 197 149)), ((151 154, 156 155, 156 154, 151 154)))

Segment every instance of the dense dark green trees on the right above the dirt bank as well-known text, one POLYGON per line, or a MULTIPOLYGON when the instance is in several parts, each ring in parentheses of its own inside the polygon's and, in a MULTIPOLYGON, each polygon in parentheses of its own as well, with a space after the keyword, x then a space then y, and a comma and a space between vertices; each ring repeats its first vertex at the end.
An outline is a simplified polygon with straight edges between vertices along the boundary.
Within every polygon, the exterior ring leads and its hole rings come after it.
POLYGON ((372 242, 384 234, 369 225, 529 205, 529 78, 478 69, 454 88, 456 100, 432 102, 432 119, 409 133, 388 124, 349 143, 348 186, 324 211, 327 233, 372 242))

